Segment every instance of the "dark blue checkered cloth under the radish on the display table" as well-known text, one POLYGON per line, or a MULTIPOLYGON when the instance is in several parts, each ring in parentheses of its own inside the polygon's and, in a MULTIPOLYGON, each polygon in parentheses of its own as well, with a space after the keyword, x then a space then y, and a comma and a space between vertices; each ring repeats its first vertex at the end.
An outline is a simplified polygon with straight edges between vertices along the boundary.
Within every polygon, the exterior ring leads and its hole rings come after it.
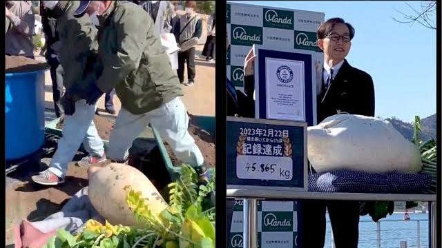
POLYGON ((373 174, 336 170, 309 174, 309 192, 422 194, 431 180, 428 174, 373 174))

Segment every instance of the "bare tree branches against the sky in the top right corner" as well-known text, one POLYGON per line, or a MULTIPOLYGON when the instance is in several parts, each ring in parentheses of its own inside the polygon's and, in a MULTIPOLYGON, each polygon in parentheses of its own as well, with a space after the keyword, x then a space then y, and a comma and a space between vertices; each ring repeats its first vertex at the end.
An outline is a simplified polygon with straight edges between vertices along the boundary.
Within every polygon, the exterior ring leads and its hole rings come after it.
POLYGON ((401 13, 403 20, 400 21, 393 17, 394 21, 398 23, 420 23, 426 28, 436 30, 436 1, 421 1, 421 10, 416 10, 409 3, 406 3, 409 8, 412 9, 412 14, 405 14, 399 10, 397 12, 401 13))

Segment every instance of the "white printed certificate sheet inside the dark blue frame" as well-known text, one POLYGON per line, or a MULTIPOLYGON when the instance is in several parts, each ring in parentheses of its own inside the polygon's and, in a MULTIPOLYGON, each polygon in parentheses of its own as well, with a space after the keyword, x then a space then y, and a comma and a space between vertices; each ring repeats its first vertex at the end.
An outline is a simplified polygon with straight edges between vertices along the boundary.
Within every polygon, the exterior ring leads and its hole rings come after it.
POLYGON ((265 59, 267 118, 305 121, 304 62, 265 59))

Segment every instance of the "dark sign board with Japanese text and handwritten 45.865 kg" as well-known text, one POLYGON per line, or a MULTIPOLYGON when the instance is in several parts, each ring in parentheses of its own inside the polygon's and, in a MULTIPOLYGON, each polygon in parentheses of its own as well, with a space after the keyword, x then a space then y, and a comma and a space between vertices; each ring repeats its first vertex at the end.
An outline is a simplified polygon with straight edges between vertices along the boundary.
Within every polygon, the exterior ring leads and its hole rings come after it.
POLYGON ((307 123, 227 117, 227 185, 307 189, 307 123))

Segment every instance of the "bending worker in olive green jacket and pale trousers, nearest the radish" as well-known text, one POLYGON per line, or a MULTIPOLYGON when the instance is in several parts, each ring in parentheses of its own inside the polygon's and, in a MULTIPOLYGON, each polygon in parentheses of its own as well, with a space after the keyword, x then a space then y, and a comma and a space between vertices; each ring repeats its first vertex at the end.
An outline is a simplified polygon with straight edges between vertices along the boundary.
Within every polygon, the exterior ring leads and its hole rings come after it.
POLYGON ((128 149, 151 123, 177 158, 192 165, 201 180, 206 179, 210 170, 204 166, 204 157, 187 130, 189 116, 180 99, 182 89, 151 17, 129 1, 80 2, 76 16, 87 13, 99 20, 103 72, 94 86, 101 92, 115 87, 122 102, 106 156, 117 163, 127 163, 128 149))

